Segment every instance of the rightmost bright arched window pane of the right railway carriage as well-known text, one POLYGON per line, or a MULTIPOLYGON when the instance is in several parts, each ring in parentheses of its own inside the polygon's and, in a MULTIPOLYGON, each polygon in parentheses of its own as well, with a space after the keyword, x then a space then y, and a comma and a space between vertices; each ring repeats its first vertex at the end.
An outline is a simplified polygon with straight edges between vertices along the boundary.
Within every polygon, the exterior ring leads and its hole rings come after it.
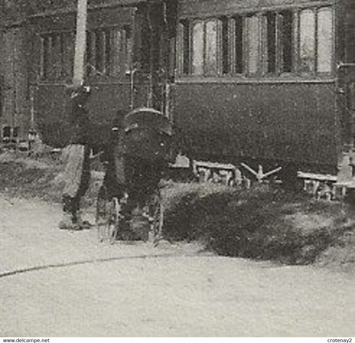
POLYGON ((329 7, 318 11, 317 30, 317 71, 329 73, 332 71, 333 50, 333 14, 329 7))

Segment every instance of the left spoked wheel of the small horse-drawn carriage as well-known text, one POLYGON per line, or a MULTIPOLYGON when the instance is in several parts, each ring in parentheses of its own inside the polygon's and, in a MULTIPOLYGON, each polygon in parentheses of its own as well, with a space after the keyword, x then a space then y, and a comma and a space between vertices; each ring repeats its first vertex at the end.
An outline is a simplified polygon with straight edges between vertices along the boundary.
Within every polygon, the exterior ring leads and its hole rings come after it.
POLYGON ((120 204, 117 198, 110 199, 107 188, 101 186, 96 202, 95 226, 100 242, 116 239, 120 221, 120 204))

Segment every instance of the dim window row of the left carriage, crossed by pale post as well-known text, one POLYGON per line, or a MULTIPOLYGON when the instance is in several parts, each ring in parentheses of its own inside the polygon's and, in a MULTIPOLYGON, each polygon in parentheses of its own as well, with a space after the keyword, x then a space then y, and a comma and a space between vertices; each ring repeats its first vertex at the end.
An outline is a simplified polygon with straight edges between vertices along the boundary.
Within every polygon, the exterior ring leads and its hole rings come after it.
MULTIPOLYGON (((43 34, 40 76, 45 80, 70 80, 73 74, 75 33, 43 34)), ((87 32, 86 75, 120 77, 131 66, 132 32, 123 28, 96 29, 87 32)))

